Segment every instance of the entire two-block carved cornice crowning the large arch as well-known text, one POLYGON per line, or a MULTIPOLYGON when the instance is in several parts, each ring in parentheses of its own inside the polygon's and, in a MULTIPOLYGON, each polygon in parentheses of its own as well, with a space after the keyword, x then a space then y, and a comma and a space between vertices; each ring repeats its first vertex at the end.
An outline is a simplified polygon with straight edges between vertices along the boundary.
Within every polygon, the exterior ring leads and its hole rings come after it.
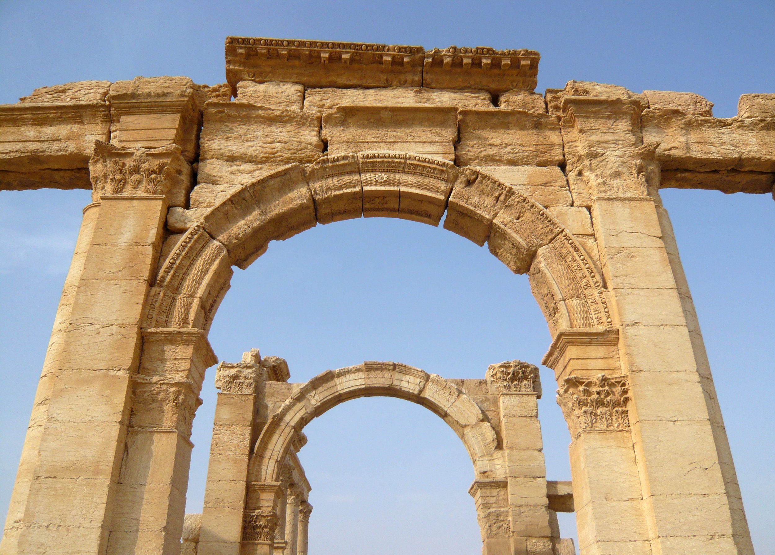
POLYGON ((532 91, 540 55, 535 50, 339 43, 321 40, 229 36, 226 79, 236 96, 239 81, 286 81, 305 87, 430 87, 500 94, 532 91))

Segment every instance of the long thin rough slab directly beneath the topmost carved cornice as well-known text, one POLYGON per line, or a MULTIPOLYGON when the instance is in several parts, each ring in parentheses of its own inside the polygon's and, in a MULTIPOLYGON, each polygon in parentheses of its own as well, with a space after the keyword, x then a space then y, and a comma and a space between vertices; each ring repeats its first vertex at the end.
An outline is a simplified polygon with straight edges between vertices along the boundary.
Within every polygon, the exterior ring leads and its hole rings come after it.
POLYGON ((304 109, 322 115, 338 106, 446 106, 492 108, 487 91, 444 91, 424 87, 308 89, 304 109))

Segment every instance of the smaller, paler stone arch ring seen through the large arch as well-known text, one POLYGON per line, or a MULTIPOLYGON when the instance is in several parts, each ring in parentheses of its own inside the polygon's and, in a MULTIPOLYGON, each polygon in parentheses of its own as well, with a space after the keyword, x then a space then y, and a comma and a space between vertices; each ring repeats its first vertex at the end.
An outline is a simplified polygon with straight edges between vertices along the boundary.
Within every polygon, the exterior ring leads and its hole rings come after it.
POLYGON ((505 479, 494 428, 453 382, 400 363, 367 361, 316 375, 277 409, 253 449, 248 481, 280 481, 294 438, 313 418, 350 399, 374 396, 397 397, 430 409, 463 441, 477 479, 505 479))

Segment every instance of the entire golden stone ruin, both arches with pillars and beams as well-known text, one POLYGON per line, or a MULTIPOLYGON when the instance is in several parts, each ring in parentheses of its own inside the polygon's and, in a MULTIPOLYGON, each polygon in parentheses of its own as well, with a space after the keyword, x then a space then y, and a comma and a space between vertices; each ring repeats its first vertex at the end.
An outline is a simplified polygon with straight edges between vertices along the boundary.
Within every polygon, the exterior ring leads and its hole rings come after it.
MULTIPOLYGON (((0 188, 89 188, 2 555, 306 555, 309 420, 359 396, 443 418, 474 466, 484 555, 753 553, 663 187, 772 194, 775 94, 570 81, 488 47, 229 37, 226 83, 43 87, 0 106, 0 188), (529 276, 553 338, 571 481, 547 481, 536 366, 450 380, 366 361, 289 383, 222 363, 202 515, 184 515, 208 330, 270 242, 439 225, 529 276), (442 223, 443 222, 443 223, 442 223)), ((515 353, 515 356, 518 354, 515 353)))

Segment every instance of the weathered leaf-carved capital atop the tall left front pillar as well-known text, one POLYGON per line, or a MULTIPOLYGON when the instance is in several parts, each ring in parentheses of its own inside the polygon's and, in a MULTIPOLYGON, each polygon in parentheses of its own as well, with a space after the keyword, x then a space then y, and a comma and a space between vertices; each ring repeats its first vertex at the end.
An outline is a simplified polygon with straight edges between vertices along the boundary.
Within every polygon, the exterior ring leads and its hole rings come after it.
POLYGON ((95 201, 103 195, 164 195, 170 206, 185 206, 191 190, 191 166, 175 145, 126 149, 95 141, 89 170, 95 201))

